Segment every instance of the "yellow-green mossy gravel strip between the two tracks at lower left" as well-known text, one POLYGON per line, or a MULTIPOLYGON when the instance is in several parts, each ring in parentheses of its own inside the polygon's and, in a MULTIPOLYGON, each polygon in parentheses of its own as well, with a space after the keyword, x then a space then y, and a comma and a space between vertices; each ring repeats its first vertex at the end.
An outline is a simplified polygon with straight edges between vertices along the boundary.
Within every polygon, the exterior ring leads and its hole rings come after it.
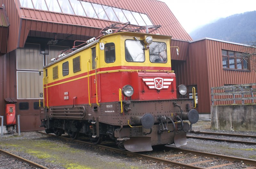
POLYGON ((89 154, 90 151, 83 151, 73 148, 72 143, 51 142, 47 140, 36 139, 19 139, 13 140, 12 143, 6 143, 0 140, 0 147, 20 148, 14 151, 23 151, 46 162, 62 165, 67 169, 90 169, 90 168, 130 168, 138 169, 136 166, 127 165, 121 161, 108 162, 102 160, 102 156, 89 154))

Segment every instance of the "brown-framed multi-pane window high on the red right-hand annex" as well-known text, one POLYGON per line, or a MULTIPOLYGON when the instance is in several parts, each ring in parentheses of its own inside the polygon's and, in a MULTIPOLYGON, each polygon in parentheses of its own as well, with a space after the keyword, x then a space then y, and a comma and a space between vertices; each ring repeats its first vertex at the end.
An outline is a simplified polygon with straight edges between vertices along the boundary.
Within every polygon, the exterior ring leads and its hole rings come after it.
POLYGON ((248 60, 242 52, 222 50, 222 67, 228 69, 248 70, 248 60))

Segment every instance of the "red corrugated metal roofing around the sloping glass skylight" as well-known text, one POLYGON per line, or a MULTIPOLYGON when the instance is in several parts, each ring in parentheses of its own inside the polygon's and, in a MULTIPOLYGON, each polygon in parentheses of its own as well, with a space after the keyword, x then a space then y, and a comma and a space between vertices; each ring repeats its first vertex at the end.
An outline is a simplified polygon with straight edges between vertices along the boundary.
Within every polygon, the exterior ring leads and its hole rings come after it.
MULTIPOLYGON (((85 0, 84 0, 85 1, 85 0)), ((86 0, 96 4, 103 4, 107 6, 113 6, 130 11, 136 11, 145 13, 149 16, 154 25, 162 25, 161 28, 153 33, 159 33, 163 35, 170 35, 173 39, 178 40, 192 40, 184 28, 180 25, 179 21, 175 18, 168 6, 161 1, 156 0, 119 0, 102 1, 102 0, 86 0)), ((88 18, 82 16, 76 16, 72 14, 64 14, 51 11, 42 11, 36 9, 20 8, 20 17, 23 19, 32 19, 37 21, 54 22, 61 24, 71 24, 79 26, 91 26, 94 28, 103 28, 113 23, 114 21, 108 21, 97 18, 88 18)))

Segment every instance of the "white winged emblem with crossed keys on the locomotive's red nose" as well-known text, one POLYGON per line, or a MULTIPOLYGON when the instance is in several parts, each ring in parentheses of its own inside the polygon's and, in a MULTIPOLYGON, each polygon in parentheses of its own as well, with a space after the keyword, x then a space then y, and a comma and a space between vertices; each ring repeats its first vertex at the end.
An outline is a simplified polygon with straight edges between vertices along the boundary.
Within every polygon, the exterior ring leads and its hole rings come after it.
POLYGON ((161 78, 161 77, 143 78, 142 80, 143 82, 146 83, 149 89, 157 89, 157 90, 168 89, 173 81, 173 79, 161 78))

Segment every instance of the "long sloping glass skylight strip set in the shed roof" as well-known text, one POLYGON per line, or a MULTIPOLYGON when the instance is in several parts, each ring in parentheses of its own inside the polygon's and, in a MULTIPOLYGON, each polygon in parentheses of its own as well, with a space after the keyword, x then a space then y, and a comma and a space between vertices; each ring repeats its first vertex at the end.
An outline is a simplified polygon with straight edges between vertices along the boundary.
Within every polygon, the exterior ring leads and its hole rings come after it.
POLYGON ((100 18, 133 25, 153 25, 148 15, 79 0, 20 0, 21 7, 100 18))

